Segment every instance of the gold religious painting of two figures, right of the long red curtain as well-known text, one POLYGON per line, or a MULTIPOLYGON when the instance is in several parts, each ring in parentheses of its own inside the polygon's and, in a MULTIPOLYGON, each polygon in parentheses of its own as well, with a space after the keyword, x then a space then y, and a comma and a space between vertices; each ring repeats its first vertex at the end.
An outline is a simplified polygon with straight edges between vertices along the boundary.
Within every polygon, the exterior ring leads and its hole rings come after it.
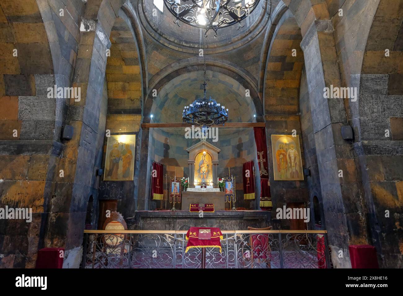
POLYGON ((271 139, 274 180, 303 180, 299 135, 271 135, 271 139))

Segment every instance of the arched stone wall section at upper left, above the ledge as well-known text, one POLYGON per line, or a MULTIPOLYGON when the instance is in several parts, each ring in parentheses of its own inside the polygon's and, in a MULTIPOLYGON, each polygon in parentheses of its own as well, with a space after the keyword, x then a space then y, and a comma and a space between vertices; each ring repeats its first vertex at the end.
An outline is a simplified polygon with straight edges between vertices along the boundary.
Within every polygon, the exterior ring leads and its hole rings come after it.
POLYGON ((42 84, 47 80, 54 81, 54 59, 37 2, 23 2, 0 4, 3 31, 0 96, 2 105, 10 106, 8 114, 2 118, 0 139, 51 140, 54 138, 56 102, 43 97, 48 85, 42 84), (35 103, 35 97, 47 108, 27 114, 38 103, 35 103), (44 118, 47 118, 46 122, 44 118), (30 126, 36 128, 30 130, 30 126), (13 137, 15 129, 18 137, 13 137))

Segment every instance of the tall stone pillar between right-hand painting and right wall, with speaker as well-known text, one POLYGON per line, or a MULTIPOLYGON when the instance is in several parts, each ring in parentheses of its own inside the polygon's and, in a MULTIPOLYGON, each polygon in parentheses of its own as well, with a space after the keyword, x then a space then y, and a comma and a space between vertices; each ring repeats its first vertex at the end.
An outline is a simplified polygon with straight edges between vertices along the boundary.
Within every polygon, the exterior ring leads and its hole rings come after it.
POLYGON ((341 87, 332 22, 314 21, 301 48, 332 260, 336 267, 351 267, 348 246, 366 243, 366 223, 360 215, 363 209, 353 155, 341 137, 341 127, 347 124, 345 104, 343 99, 324 97, 325 87, 341 87), (343 258, 338 257, 340 250, 343 258))

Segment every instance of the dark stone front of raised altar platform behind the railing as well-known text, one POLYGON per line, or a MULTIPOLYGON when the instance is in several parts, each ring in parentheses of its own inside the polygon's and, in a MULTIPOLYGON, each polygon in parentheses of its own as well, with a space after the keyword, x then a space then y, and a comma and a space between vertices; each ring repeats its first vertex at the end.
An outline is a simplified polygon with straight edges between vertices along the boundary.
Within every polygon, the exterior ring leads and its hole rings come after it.
POLYGON ((248 226, 266 228, 270 226, 269 211, 136 211, 128 219, 130 230, 189 230, 190 227, 218 227, 221 230, 246 230, 248 226))

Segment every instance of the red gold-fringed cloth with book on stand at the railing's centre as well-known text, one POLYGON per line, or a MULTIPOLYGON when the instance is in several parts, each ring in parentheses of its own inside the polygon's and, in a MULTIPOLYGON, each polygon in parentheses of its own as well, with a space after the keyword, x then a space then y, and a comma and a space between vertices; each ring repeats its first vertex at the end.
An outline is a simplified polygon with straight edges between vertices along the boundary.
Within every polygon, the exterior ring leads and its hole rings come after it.
POLYGON ((223 239, 222 232, 218 227, 191 227, 186 234, 187 246, 185 253, 191 248, 220 248, 223 239), (200 229, 210 229, 211 238, 209 240, 199 239, 200 229))

